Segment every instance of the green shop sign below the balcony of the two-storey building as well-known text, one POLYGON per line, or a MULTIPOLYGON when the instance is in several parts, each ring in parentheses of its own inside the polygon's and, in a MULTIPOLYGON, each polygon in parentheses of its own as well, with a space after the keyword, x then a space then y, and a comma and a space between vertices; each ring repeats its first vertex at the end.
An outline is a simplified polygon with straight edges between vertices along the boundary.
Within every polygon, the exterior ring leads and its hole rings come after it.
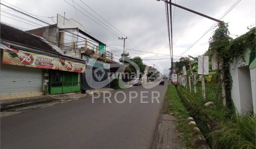
POLYGON ((94 67, 100 67, 109 70, 110 69, 110 64, 102 61, 95 59, 94 57, 90 57, 87 55, 83 55, 83 59, 86 60, 86 64, 89 66, 94 66, 94 67))

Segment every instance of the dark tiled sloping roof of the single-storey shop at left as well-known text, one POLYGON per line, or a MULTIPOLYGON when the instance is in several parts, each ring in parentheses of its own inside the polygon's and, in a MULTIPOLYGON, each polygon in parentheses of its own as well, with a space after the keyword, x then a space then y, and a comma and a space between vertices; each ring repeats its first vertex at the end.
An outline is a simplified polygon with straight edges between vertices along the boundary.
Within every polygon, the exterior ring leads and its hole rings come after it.
POLYGON ((42 38, 21 31, 20 29, 8 26, 4 23, 1 23, 0 32, 0 37, 3 40, 22 44, 31 48, 41 49, 50 53, 60 54, 51 45, 49 45, 49 43, 44 42, 42 38))

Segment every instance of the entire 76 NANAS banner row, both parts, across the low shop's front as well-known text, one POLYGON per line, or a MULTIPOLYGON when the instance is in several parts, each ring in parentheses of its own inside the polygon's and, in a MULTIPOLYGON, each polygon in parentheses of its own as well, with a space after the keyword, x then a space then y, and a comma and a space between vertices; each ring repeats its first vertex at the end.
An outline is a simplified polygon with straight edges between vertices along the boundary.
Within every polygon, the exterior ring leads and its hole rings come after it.
POLYGON ((3 49, 2 63, 4 64, 85 73, 86 65, 82 63, 22 51, 16 48, 10 48, 9 45, 6 45, 6 47, 8 49, 3 49))

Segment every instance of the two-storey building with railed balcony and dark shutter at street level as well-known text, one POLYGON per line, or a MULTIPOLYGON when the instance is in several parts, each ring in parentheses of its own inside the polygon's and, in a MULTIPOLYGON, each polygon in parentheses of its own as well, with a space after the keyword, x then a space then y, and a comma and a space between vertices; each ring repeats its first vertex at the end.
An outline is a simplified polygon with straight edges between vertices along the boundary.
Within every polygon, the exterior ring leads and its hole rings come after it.
POLYGON ((110 64, 113 63, 113 55, 106 50, 106 44, 92 37, 82 24, 73 18, 67 19, 57 14, 56 24, 27 32, 58 45, 67 56, 86 61, 86 73, 81 75, 82 89, 109 87, 109 72, 110 64))

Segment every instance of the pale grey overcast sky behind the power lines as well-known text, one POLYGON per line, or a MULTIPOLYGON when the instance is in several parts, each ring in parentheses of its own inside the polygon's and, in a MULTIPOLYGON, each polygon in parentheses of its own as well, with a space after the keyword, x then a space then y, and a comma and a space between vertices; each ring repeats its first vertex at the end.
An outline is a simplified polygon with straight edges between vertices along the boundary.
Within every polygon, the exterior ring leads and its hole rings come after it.
MULTIPOLYGON (((66 18, 77 19, 74 7, 70 6, 72 0, 4 0, 22 10, 25 10, 33 15, 45 16, 41 17, 49 22, 57 21, 57 13, 63 15, 64 12, 66 18), (53 21, 50 18, 53 16, 53 21)), ((9 5, 1 0, 3 4, 9 5)), ((150 51, 154 53, 169 54, 168 45, 168 34, 165 16, 165 4, 163 1, 156 0, 82 0, 85 4, 91 7, 94 11, 100 14, 105 20, 110 22, 123 34, 137 46, 141 51, 150 51)), ((219 19, 237 0, 176 0, 176 4, 182 5, 189 9, 201 12, 205 15, 219 19)), ((111 27, 110 24, 102 20, 96 13, 92 12, 86 5, 80 0, 74 0, 75 7, 86 15, 90 16, 86 11, 97 17, 107 26, 111 27), (81 7, 79 7, 81 6, 81 7)), ((175 0, 172 0, 175 2, 175 0)), ((9 5, 9 6, 11 6, 9 5)), ((255 26, 255 0, 241 0, 233 10, 231 10, 222 21, 229 23, 229 31, 231 37, 235 38, 236 35, 246 33, 248 26, 255 26)), ((6 11, 18 16, 18 13, 4 10, 6 9, 1 5, 1 10, 6 11)), ((92 21, 89 17, 82 14, 77 10, 79 21, 83 24, 85 30, 89 32, 93 37, 98 40, 111 45, 118 49, 123 49, 122 40, 118 40, 116 35, 113 35, 99 24, 92 21)), ((173 24, 173 44, 174 44, 174 55, 180 56, 186 49, 198 40, 215 22, 198 16, 191 12, 175 8, 172 6, 173 24), (174 13, 175 9, 175 13, 174 13)), ((1 12, 1 22, 10 23, 18 27, 26 29, 37 28, 35 26, 22 23, 5 16, 9 16, 1 12)), ((11 16, 10 16, 11 17, 11 16)), ((25 18, 24 16, 21 16, 25 18)), ((97 21, 94 17, 92 19, 97 21)), ((15 18, 15 17, 13 17, 15 18)), ((16 18, 17 19, 17 18, 16 18)), ((29 18, 28 18, 29 19, 29 18)), ((35 22, 34 20, 31 20, 35 22)), ((99 22, 99 21, 97 21, 99 22)), ((39 23, 39 22, 38 22, 39 23)), ((31 23, 32 24, 32 23, 31 23)), ((44 25, 43 23, 39 23, 44 25)), ((102 24, 102 23, 100 23, 102 24)), ((102 26, 105 26, 102 24, 102 26)), ((107 28, 107 27, 106 27, 107 28)), ((113 27, 111 27, 114 29, 113 27)), ((118 32, 116 29, 114 31, 118 32)), ((112 31, 113 32, 113 31, 112 31)), ((118 32, 119 33, 119 32, 118 32)), ((119 33, 121 34, 121 33, 119 33)), ((208 49, 208 40, 212 36, 212 31, 208 32, 199 42, 197 42, 190 50, 188 50, 182 56, 198 56, 202 55, 208 49)), ((132 45, 132 43, 128 40, 132 45)), ((135 46, 126 48, 136 49, 135 46)), ((115 51, 116 55, 120 55, 115 51)), ((132 57, 140 56, 143 59, 166 59, 166 60, 147 60, 144 61, 146 65, 153 66, 156 64, 161 71, 168 72, 170 67, 170 61, 167 60, 170 56, 156 55, 149 53, 137 53, 135 51, 127 50, 132 57)), ((114 55, 115 58, 119 58, 114 55)), ((178 57, 174 56, 174 59, 178 57)), ((117 59, 115 59, 117 61, 117 59)), ((174 60, 176 61, 176 60, 174 60)))

